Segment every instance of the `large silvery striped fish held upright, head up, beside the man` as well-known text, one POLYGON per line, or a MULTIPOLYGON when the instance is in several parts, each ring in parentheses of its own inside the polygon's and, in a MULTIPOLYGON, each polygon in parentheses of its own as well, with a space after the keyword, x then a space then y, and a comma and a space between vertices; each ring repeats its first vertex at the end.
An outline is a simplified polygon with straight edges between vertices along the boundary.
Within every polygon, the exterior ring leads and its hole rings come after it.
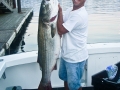
POLYGON ((57 0, 42 0, 38 23, 38 63, 42 70, 42 78, 38 90, 51 90, 50 76, 60 50, 57 13, 57 0))

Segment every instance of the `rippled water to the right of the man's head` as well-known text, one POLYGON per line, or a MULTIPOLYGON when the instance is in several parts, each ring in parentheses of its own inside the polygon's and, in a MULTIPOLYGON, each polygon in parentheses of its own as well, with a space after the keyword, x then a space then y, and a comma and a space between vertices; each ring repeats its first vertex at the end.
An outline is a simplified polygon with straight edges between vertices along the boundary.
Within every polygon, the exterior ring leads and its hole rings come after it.
POLYGON ((120 11, 120 0, 87 0, 86 8, 91 13, 109 13, 120 11))

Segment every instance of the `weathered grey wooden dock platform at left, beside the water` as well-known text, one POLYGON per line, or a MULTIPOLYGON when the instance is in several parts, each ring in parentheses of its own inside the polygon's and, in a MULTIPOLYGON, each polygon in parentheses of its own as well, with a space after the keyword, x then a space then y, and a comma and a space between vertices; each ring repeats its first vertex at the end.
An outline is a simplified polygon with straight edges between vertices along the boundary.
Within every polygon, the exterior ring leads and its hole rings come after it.
POLYGON ((0 14, 0 56, 5 55, 5 51, 25 29, 32 16, 32 8, 22 8, 20 13, 17 9, 13 9, 12 13, 0 14))

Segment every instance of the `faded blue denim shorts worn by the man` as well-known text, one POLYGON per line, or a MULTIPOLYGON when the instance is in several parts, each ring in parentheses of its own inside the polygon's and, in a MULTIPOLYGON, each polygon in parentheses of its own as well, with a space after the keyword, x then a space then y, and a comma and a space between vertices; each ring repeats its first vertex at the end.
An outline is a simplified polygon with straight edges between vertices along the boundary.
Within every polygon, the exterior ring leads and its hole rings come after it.
POLYGON ((59 78, 67 81, 70 90, 78 90, 81 87, 81 78, 86 60, 78 63, 69 63, 61 58, 59 78))

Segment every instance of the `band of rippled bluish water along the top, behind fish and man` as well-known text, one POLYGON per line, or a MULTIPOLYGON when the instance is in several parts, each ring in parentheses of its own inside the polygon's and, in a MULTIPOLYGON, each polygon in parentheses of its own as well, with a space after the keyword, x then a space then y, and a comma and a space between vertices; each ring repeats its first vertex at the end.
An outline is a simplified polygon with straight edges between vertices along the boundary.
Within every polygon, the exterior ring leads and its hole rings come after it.
MULTIPOLYGON (((65 11, 72 6, 72 0, 58 0, 65 11)), ((34 15, 39 15, 41 0, 21 0, 23 8, 32 7, 34 15)), ((86 9, 91 13, 107 13, 120 11, 120 0, 86 0, 86 9)))

